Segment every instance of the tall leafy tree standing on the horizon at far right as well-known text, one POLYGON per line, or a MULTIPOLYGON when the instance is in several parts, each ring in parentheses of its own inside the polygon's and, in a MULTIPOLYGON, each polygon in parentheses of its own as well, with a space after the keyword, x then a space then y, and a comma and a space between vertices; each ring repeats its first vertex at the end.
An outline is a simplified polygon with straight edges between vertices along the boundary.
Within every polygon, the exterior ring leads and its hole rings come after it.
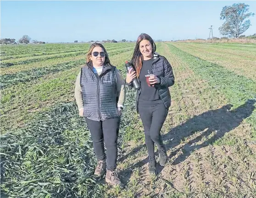
POLYGON ((220 33, 228 37, 239 37, 250 27, 250 20, 245 21, 245 19, 254 16, 254 13, 248 11, 249 5, 244 3, 223 7, 220 19, 226 21, 219 27, 220 33))

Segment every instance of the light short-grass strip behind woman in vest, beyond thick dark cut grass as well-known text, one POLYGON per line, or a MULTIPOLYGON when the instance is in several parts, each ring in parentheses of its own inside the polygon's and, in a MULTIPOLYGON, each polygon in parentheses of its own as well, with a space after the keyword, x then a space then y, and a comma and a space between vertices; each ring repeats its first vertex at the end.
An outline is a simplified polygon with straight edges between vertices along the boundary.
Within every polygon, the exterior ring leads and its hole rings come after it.
MULTIPOLYGON (((131 51, 111 54, 114 65, 124 63, 131 51), (121 56, 120 56, 121 53, 121 56)), ((1 131, 22 126, 36 116, 36 113, 47 110, 58 102, 74 100, 75 80, 81 65, 69 70, 49 74, 38 79, 18 83, 2 90, 1 96, 1 131)))

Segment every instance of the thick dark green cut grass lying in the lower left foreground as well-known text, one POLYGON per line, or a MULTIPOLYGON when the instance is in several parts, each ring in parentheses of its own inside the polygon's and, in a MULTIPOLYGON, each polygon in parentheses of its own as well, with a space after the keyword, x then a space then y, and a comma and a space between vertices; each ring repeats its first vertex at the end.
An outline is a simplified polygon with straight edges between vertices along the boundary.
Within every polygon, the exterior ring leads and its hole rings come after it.
MULTIPOLYGON (((131 52, 125 52, 112 64, 123 72, 124 60, 130 55, 131 52)), ((41 82, 37 85, 45 87, 41 82)), ((31 90, 36 90, 33 88, 31 90)), ((133 108, 128 102, 126 106, 124 112, 133 108)), ((128 113, 122 117, 121 135, 131 120, 128 113)), ((8 197, 105 196, 106 184, 100 184, 92 177, 96 159, 88 128, 84 120, 78 117, 75 102, 56 104, 48 111, 39 112, 21 129, 13 128, 2 135, 1 141, 5 142, 1 144, 1 153, 4 153, 1 177, 5 178, 1 189, 8 197)), ((121 145, 121 139, 119 141, 121 145)), ((120 192, 120 189, 114 190, 117 194, 120 192)))

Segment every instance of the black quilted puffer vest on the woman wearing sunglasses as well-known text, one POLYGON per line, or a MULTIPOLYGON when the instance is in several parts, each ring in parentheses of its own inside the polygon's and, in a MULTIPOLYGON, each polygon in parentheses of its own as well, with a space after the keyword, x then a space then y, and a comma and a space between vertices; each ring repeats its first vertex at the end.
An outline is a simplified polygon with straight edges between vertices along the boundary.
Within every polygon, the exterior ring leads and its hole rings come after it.
POLYGON ((116 67, 106 64, 95 75, 91 62, 81 68, 80 86, 83 93, 83 116, 95 121, 117 118, 116 67))

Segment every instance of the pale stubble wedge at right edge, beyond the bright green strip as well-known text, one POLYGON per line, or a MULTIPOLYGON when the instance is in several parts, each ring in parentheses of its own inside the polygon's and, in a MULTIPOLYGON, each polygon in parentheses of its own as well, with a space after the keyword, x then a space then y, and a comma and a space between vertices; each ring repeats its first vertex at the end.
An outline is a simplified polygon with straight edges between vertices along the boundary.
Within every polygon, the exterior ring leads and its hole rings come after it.
POLYGON ((256 46, 173 43, 184 52, 256 81, 256 46))

